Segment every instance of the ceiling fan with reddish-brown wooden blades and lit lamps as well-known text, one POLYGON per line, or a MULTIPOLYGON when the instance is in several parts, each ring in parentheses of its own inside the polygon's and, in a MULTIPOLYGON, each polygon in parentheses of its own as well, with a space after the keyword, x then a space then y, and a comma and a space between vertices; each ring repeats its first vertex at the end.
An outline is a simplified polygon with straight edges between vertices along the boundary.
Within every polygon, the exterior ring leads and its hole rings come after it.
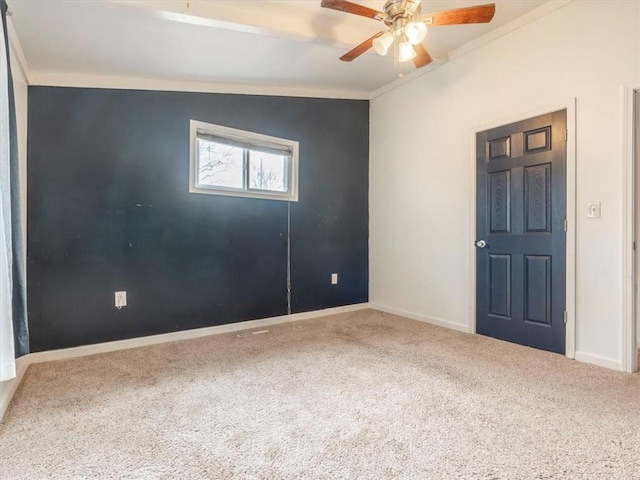
POLYGON ((372 47, 380 55, 386 55, 393 46, 396 68, 400 76, 403 75, 402 65, 409 60, 413 60, 416 68, 422 68, 433 61, 422 45, 427 34, 427 25, 488 23, 496 11, 495 4, 490 3, 422 15, 420 0, 388 0, 382 12, 347 0, 322 0, 321 6, 383 21, 387 26, 386 31, 367 38, 340 57, 340 60, 350 62, 372 47))

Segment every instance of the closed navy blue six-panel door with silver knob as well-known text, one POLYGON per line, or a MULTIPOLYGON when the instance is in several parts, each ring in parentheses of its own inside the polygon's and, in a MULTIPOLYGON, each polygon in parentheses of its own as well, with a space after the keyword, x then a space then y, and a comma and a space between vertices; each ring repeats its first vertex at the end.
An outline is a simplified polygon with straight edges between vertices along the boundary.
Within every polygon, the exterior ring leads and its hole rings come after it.
POLYGON ((476 331, 565 353, 567 111, 476 135, 476 331))

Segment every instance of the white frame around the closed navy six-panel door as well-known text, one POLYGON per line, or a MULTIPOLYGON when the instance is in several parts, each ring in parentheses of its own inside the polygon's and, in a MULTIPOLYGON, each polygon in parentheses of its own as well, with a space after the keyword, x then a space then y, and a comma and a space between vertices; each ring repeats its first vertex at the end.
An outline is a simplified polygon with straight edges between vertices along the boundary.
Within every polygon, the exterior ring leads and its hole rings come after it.
POLYGON ((469 271, 470 296, 469 331, 476 333, 476 133, 492 128, 516 123, 527 118, 538 117, 547 113, 567 111, 567 278, 566 278, 566 309, 567 331, 565 355, 575 357, 576 352, 576 98, 559 101, 558 103, 537 108, 532 111, 518 113, 512 117, 492 121, 481 125, 472 133, 471 142, 471 228, 469 236, 469 271))

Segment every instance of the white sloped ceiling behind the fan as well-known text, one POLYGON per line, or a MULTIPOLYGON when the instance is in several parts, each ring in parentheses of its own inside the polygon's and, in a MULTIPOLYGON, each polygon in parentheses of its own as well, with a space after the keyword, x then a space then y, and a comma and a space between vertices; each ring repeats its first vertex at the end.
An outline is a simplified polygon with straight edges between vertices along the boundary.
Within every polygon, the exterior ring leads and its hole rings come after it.
MULTIPOLYGON (((490 0, 423 0, 423 13, 490 0)), ((8 0, 30 73, 234 84, 367 96, 397 80, 393 59, 338 58, 375 20, 320 0, 8 0)), ((358 2, 382 10, 384 1, 358 2)), ((446 62, 461 46, 547 3, 497 1, 490 24, 433 27, 424 44, 446 62)), ((504 28, 504 27, 503 27, 504 28)), ((415 75, 415 74, 414 74, 415 75)))

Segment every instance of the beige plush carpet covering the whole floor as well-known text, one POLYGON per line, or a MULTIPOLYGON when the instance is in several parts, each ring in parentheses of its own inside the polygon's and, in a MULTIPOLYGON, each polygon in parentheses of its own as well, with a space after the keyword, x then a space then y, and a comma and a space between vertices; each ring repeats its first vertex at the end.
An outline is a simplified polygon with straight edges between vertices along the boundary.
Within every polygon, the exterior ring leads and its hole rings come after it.
POLYGON ((365 310, 33 365, 0 478, 640 478, 640 377, 365 310))

